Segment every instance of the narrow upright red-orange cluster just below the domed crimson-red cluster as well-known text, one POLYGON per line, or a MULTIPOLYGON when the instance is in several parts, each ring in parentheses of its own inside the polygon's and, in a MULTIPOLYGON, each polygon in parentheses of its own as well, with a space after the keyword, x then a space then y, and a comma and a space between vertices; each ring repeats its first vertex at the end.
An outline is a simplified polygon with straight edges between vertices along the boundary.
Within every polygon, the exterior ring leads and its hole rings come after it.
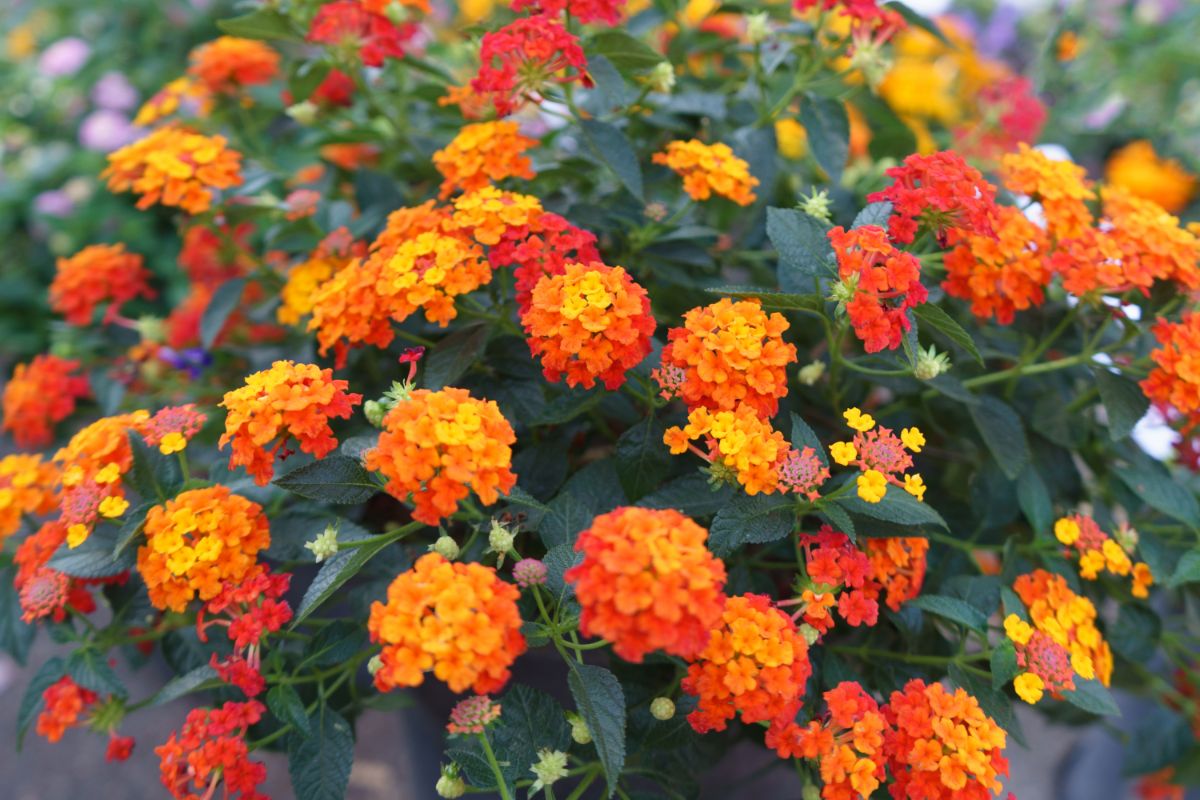
POLYGON ((851 230, 839 225, 828 236, 841 278, 834 296, 845 303, 854 336, 868 353, 895 350, 911 326, 907 311, 929 299, 920 261, 893 247, 878 225, 851 230))

